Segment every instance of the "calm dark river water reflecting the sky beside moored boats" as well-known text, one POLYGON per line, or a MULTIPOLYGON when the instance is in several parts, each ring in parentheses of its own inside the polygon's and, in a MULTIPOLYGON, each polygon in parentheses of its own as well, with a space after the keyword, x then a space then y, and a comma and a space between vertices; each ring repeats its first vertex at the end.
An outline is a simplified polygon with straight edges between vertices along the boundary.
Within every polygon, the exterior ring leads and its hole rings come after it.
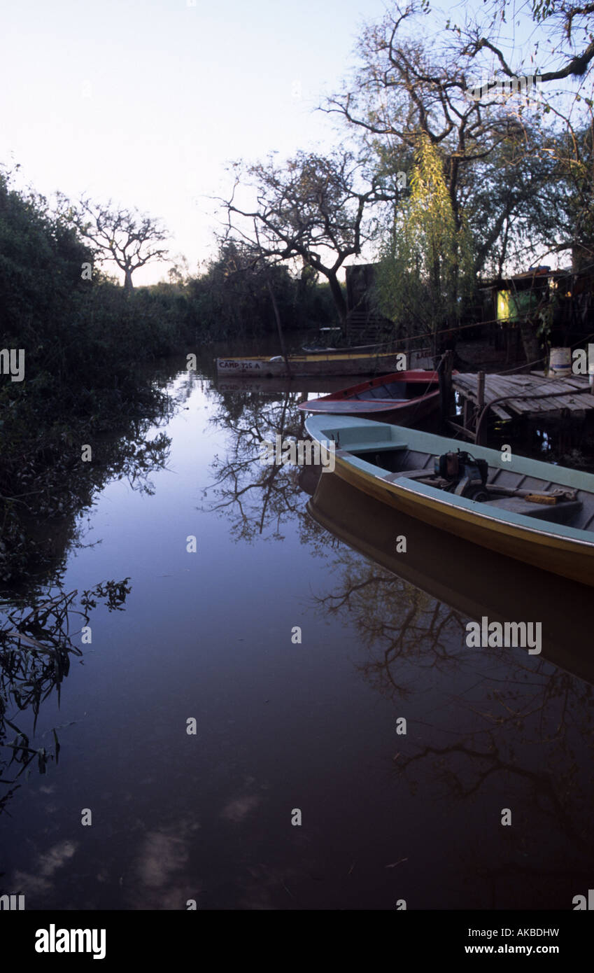
POLYGON ((131 591, 40 707, 31 745, 57 727, 59 763, 0 813, 2 890, 27 909, 571 909, 594 875, 591 590, 262 466, 259 436, 301 433, 296 388, 181 374, 153 495, 97 497, 63 588, 131 591), (482 615, 542 621, 542 655, 468 648, 482 615))

